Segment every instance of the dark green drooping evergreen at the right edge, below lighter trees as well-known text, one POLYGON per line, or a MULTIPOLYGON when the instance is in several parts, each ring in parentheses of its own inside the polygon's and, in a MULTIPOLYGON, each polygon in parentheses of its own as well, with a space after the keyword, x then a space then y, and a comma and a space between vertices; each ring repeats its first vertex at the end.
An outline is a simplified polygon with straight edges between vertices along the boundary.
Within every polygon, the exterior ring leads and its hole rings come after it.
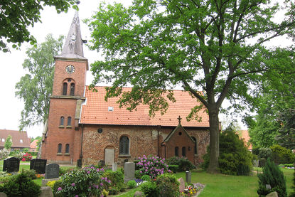
POLYGON ((281 147, 295 149, 295 110, 284 110, 281 112, 279 120, 282 126, 277 136, 278 143, 281 147))

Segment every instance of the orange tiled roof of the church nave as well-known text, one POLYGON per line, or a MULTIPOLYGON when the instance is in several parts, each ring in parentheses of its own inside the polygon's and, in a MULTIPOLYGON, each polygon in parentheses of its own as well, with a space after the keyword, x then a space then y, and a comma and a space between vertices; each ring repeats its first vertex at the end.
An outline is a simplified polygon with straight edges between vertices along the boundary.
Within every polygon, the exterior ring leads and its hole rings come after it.
MULTIPOLYGON (((119 108, 116 103, 118 97, 109 98, 106 102, 104 95, 105 87, 95 87, 97 92, 89 90, 86 86, 85 97, 86 103, 82 105, 80 116, 81 124, 117 124, 117 125, 140 125, 140 126, 170 126, 178 125, 178 116, 183 118, 181 124, 183 127, 209 127, 209 117, 207 112, 200 110, 198 115, 202 117, 202 121, 196 120, 186 121, 187 115, 191 109, 198 105, 198 101, 193 99, 188 92, 182 90, 173 90, 176 102, 168 100, 168 110, 164 115, 156 112, 155 117, 149 117, 149 106, 139 105, 137 110, 130 112, 126 108, 119 108), (109 107, 113 111, 109 111, 109 107)), ((124 91, 131 91, 132 88, 126 87, 124 91)))

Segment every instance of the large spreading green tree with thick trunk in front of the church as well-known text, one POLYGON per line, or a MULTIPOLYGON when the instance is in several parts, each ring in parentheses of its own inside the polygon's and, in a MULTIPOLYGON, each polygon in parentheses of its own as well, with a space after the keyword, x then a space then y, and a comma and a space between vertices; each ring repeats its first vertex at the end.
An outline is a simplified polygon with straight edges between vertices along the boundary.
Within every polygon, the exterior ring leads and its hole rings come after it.
POLYGON ((157 110, 165 112, 166 100, 174 100, 167 89, 181 85, 196 101, 187 119, 199 119, 197 112, 208 109, 208 171, 218 171, 222 102, 225 98, 250 98, 250 84, 257 83, 258 76, 273 66, 263 63, 264 56, 272 58, 274 53, 263 43, 294 33, 294 3, 271 3, 134 0, 128 8, 102 4, 88 21, 91 48, 105 55, 104 60, 92 64, 93 84, 112 81, 106 97, 119 96, 120 105, 128 110, 140 103, 150 105, 151 115, 157 110), (281 7, 286 18, 272 21, 281 7), (132 91, 122 92, 125 85, 132 85, 132 91))

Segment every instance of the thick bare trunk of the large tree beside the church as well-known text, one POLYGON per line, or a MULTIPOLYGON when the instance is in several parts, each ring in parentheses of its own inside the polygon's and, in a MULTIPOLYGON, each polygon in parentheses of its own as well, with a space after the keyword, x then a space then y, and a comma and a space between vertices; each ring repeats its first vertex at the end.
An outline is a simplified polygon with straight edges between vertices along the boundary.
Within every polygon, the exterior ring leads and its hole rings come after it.
POLYGON ((219 119, 218 110, 208 109, 210 124, 210 161, 207 171, 215 174, 219 173, 218 157, 219 157, 219 119))

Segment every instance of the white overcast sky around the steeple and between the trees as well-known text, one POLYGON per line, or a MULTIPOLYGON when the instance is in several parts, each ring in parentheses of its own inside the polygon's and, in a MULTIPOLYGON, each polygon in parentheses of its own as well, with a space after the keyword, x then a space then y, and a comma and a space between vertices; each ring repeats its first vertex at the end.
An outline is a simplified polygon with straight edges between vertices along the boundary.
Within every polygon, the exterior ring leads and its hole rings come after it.
MULTIPOLYGON (((112 2, 112 1, 106 1, 112 2)), ((118 1, 117 1, 118 2, 118 1)), ((123 4, 131 4, 131 1, 122 0, 123 4)), ((82 19, 90 18, 97 7, 99 0, 81 0, 79 5, 80 11, 80 26, 82 38, 90 39, 90 31, 88 30, 82 19)), ((72 22, 75 11, 72 9, 68 13, 57 14, 54 8, 45 7, 41 11, 42 23, 36 23, 33 28, 30 28, 31 34, 37 39, 38 43, 45 40, 48 33, 52 33, 54 38, 59 35, 68 35, 70 23, 72 22)), ((284 43, 284 41, 279 41, 284 43)), ((0 129, 18 130, 18 120, 21 117, 21 110, 23 109, 23 101, 15 97, 15 85, 20 78, 26 74, 23 70, 22 63, 26 58, 26 48, 31 47, 28 43, 23 43, 21 50, 11 49, 11 53, 3 53, 0 51, 1 72, 0 72, 0 129)), ((100 58, 100 55, 95 51, 90 51, 85 46, 84 56, 88 59, 89 65, 100 58)), ((87 85, 92 81, 90 71, 87 73, 87 85)), ((43 132, 43 125, 36 127, 25 128, 28 132, 28 137, 41 136, 43 132)))

